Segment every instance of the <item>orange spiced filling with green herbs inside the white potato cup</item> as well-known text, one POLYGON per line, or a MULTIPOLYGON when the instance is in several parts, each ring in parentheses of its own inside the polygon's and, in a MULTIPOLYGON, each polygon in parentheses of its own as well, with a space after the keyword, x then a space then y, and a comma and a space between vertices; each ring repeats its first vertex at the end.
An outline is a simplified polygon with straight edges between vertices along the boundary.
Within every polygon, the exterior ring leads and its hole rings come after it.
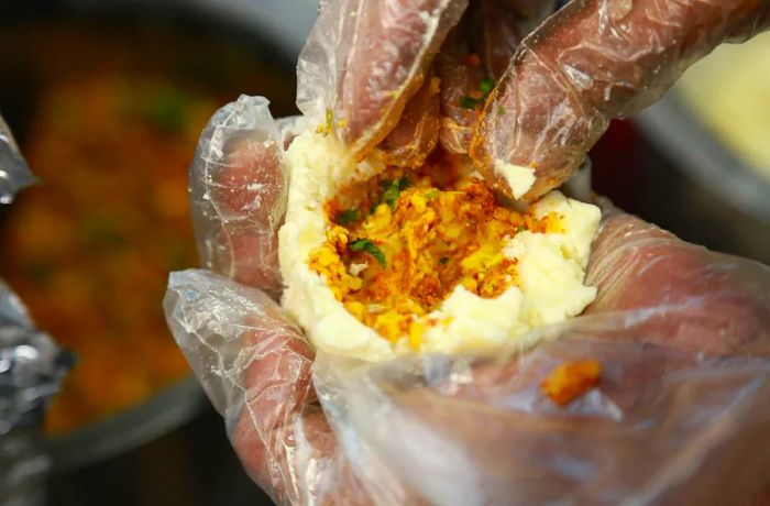
POLYGON ((364 324, 419 348, 426 318, 462 285, 484 298, 517 284, 508 238, 561 231, 561 219, 537 219, 503 206, 479 177, 433 160, 417 170, 389 167, 343 188, 324 207, 326 242, 308 258, 334 296, 364 324))

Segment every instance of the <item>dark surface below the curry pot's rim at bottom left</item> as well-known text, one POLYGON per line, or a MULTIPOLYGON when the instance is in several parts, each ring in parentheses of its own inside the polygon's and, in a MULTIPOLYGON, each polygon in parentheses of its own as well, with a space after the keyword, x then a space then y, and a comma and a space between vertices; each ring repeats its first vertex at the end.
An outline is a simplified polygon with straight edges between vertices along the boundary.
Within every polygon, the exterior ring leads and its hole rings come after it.
POLYGON ((246 476, 208 407, 184 427, 122 457, 54 475, 48 506, 271 505, 246 476))

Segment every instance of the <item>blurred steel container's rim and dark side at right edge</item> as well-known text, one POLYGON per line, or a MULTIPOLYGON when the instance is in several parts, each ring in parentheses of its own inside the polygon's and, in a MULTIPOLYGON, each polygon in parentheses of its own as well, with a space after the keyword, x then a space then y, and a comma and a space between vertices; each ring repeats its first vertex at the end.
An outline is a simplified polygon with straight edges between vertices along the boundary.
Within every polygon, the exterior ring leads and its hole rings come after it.
POLYGON ((649 167, 658 170, 658 180, 646 198, 658 199, 661 189, 674 200, 661 202, 668 209, 661 224, 674 223, 689 231, 685 239, 770 264, 770 180, 730 151, 675 90, 635 122, 678 170, 649 167))

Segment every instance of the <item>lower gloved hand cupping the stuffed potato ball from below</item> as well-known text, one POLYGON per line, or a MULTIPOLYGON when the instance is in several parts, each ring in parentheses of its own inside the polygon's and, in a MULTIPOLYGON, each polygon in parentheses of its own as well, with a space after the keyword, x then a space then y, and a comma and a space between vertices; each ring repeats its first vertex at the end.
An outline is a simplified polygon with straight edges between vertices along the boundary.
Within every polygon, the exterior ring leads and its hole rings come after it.
MULTIPOLYGON (((770 270, 608 211, 585 316, 529 352, 363 364, 314 351, 279 293, 292 123, 242 97, 191 168, 205 266, 169 327, 249 474, 280 504, 748 504, 770 491, 770 270), (232 279, 237 279, 237 283, 232 279), (265 289, 265 292, 258 288, 265 289), (597 361, 565 407, 540 384, 597 361), (763 488, 766 487, 766 488, 763 488)), ((756 503, 762 504, 762 503, 756 503)))

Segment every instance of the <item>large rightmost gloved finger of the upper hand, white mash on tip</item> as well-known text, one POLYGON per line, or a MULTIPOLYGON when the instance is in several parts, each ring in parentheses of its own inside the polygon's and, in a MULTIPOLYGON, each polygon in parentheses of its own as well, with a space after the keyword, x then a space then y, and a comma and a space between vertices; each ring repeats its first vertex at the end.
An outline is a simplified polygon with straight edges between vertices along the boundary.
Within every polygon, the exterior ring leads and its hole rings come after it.
POLYGON ((522 42, 471 154, 504 191, 495 162, 535 168, 522 197, 534 200, 569 178, 612 118, 657 100, 719 43, 768 25, 767 0, 574 0, 522 42))

